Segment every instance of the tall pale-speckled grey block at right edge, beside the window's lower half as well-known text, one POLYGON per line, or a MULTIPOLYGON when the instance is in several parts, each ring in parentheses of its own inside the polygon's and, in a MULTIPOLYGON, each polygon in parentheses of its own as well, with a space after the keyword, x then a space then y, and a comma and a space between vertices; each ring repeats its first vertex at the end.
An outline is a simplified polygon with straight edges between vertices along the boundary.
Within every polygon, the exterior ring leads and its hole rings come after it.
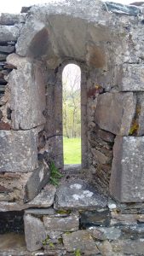
POLYGON ((144 137, 116 137, 110 193, 121 202, 144 201, 144 137))

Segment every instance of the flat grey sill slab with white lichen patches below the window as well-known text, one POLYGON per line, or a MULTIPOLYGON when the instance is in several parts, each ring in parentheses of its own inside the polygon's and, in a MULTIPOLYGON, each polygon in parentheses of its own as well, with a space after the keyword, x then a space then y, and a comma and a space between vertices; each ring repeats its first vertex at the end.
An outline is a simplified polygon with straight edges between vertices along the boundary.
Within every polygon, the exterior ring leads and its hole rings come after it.
POLYGON ((62 184, 56 191, 55 208, 96 209, 106 206, 106 197, 80 179, 62 184))

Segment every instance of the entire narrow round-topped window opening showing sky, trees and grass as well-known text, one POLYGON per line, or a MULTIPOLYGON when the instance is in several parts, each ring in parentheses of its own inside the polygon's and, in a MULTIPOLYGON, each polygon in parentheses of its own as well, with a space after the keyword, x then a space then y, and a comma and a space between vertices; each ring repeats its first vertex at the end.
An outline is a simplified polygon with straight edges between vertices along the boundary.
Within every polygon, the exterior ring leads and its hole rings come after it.
POLYGON ((62 73, 64 166, 81 165, 81 70, 68 64, 62 73))

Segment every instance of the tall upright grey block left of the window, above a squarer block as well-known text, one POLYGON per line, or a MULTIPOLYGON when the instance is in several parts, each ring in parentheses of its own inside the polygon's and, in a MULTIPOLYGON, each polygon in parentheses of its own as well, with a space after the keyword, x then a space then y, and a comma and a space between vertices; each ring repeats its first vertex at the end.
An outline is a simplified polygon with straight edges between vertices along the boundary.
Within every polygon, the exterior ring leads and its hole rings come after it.
POLYGON ((27 130, 43 125, 45 84, 41 63, 32 63, 28 58, 15 54, 9 55, 7 61, 17 67, 9 75, 12 127, 14 130, 27 130))

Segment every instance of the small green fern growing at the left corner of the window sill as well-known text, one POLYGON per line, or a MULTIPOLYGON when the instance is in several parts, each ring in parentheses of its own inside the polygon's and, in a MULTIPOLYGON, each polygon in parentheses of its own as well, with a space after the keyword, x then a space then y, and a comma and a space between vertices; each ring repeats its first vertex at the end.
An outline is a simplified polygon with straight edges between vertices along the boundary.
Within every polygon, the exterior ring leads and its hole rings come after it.
POLYGON ((49 161, 49 170, 50 170, 50 183, 54 186, 59 185, 59 180, 63 176, 58 168, 55 166, 55 163, 53 161, 49 161))

